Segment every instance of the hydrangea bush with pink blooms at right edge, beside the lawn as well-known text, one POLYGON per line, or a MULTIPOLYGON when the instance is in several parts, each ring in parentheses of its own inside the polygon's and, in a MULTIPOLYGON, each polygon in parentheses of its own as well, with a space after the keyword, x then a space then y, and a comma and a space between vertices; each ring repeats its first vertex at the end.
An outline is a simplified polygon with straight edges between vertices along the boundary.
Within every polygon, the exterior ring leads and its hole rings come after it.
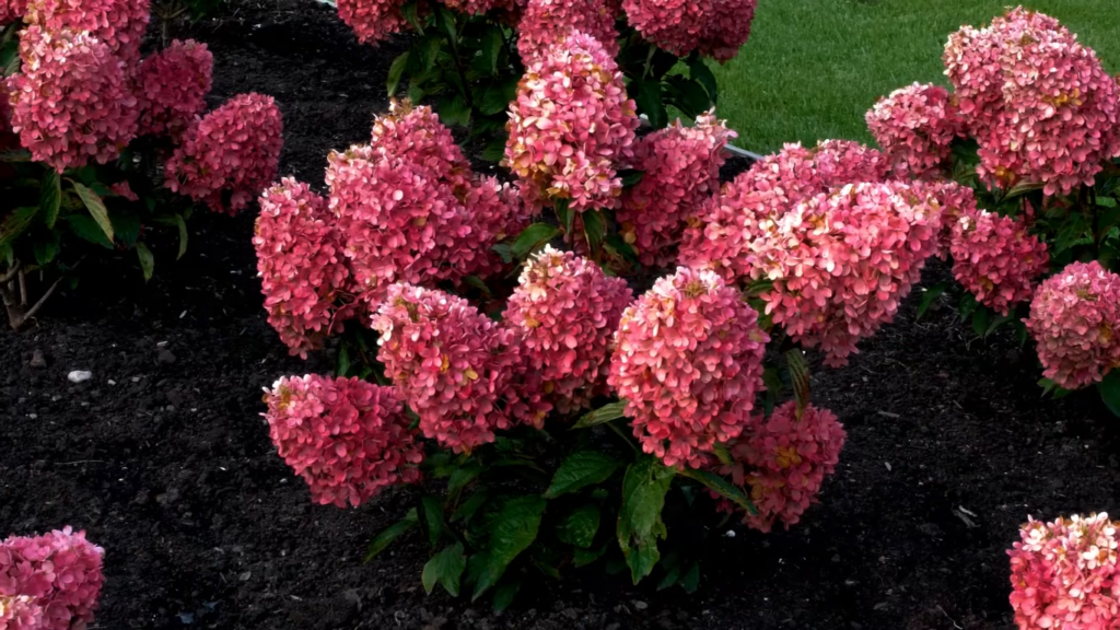
POLYGON ((962 317, 981 336, 1009 324, 1033 337, 1047 391, 1096 386, 1120 415, 1117 78, 1057 20, 1023 8, 962 27, 944 64, 951 90, 904 87, 867 122, 905 177, 960 185, 942 194, 955 206, 942 251, 962 317))

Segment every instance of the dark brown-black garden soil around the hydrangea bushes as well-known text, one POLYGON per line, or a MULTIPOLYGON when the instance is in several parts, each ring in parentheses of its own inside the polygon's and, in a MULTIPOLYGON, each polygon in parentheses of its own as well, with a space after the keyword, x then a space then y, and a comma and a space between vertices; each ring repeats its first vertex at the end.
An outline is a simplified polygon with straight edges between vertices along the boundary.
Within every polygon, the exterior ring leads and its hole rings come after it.
MULTIPOLYGON (((400 50, 360 47, 307 0, 170 31, 209 44, 214 104, 277 98, 282 172, 316 185, 328 149, 366 140, 400 50)), ((1093 393, 1042 399, 1033 349, 981 341, 944 305, 915 321, 912 297, 848 367, 814 376, 848 430, 821 503, 790 531, 720 532, 694 595, 580 574, 526 584, 503 614, 426 596, 418 537, 361 562, 408 492, 312 506, 276 456, 262 388, 329 358, 289 358, 265 323, 252 221, 199 215, 181 261, 157 249, 150 284, 131 257, 109 260, 0 332, 0 535, 73 525, 106 549, 92 628, 1002 629, 1027 515, 1120 511, 1120 425, 1093 393)))

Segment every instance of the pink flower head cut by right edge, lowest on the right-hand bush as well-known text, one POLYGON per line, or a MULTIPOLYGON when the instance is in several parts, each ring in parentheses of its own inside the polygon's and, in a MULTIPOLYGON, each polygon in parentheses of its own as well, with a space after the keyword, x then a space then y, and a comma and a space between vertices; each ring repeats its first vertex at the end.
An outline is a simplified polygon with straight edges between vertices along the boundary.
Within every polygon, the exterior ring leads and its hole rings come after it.
POLYGON ((1120 276, 1095 260, 1068 265, 1035 291, 1026 323, 1046 378, 1065 389, 1099 382, 1120 365, 1120 276))

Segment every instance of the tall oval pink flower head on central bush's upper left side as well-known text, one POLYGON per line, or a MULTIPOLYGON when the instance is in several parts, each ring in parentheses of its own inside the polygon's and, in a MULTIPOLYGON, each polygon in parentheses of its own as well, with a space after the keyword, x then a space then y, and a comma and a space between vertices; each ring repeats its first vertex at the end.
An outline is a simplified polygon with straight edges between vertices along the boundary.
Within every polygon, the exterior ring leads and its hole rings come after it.
POLYGON ((269 324, 292 354, 323 348, 346 317, 348 269, 326 200, 292 178, 264 191, 253 248, 269 324))

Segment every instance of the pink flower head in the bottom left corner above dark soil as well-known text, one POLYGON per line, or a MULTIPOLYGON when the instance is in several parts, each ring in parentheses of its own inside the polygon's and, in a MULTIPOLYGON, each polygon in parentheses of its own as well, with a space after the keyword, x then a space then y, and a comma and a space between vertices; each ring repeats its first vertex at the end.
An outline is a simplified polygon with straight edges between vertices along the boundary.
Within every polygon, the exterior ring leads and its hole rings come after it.
POLYGON ((8 599, 24 618, 34 619, 34 608, 39 609, 39 624, 27 630, 85 628, 105 581, 104 553, 84 531, 74 534, 69 527, 43 536, 11 536, 0 543, 0 602, 8 599), (34 606, 24 597, 31 597, 34 606))

